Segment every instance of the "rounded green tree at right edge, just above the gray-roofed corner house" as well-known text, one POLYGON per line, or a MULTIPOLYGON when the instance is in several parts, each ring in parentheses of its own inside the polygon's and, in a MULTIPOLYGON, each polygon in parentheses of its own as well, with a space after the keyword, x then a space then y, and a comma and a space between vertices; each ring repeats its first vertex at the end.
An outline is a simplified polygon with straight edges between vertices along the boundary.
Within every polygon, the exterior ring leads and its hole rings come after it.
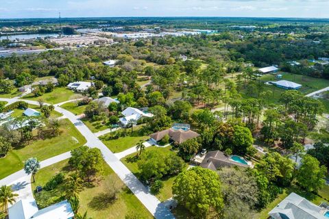
POLYGON ((324 179, 327 172, 326 166, 320 166, 320 162, 311 155, 304 155, 301 163, 296 177, 298 183, 308 192, 317 192, 326 183, 324 179))

